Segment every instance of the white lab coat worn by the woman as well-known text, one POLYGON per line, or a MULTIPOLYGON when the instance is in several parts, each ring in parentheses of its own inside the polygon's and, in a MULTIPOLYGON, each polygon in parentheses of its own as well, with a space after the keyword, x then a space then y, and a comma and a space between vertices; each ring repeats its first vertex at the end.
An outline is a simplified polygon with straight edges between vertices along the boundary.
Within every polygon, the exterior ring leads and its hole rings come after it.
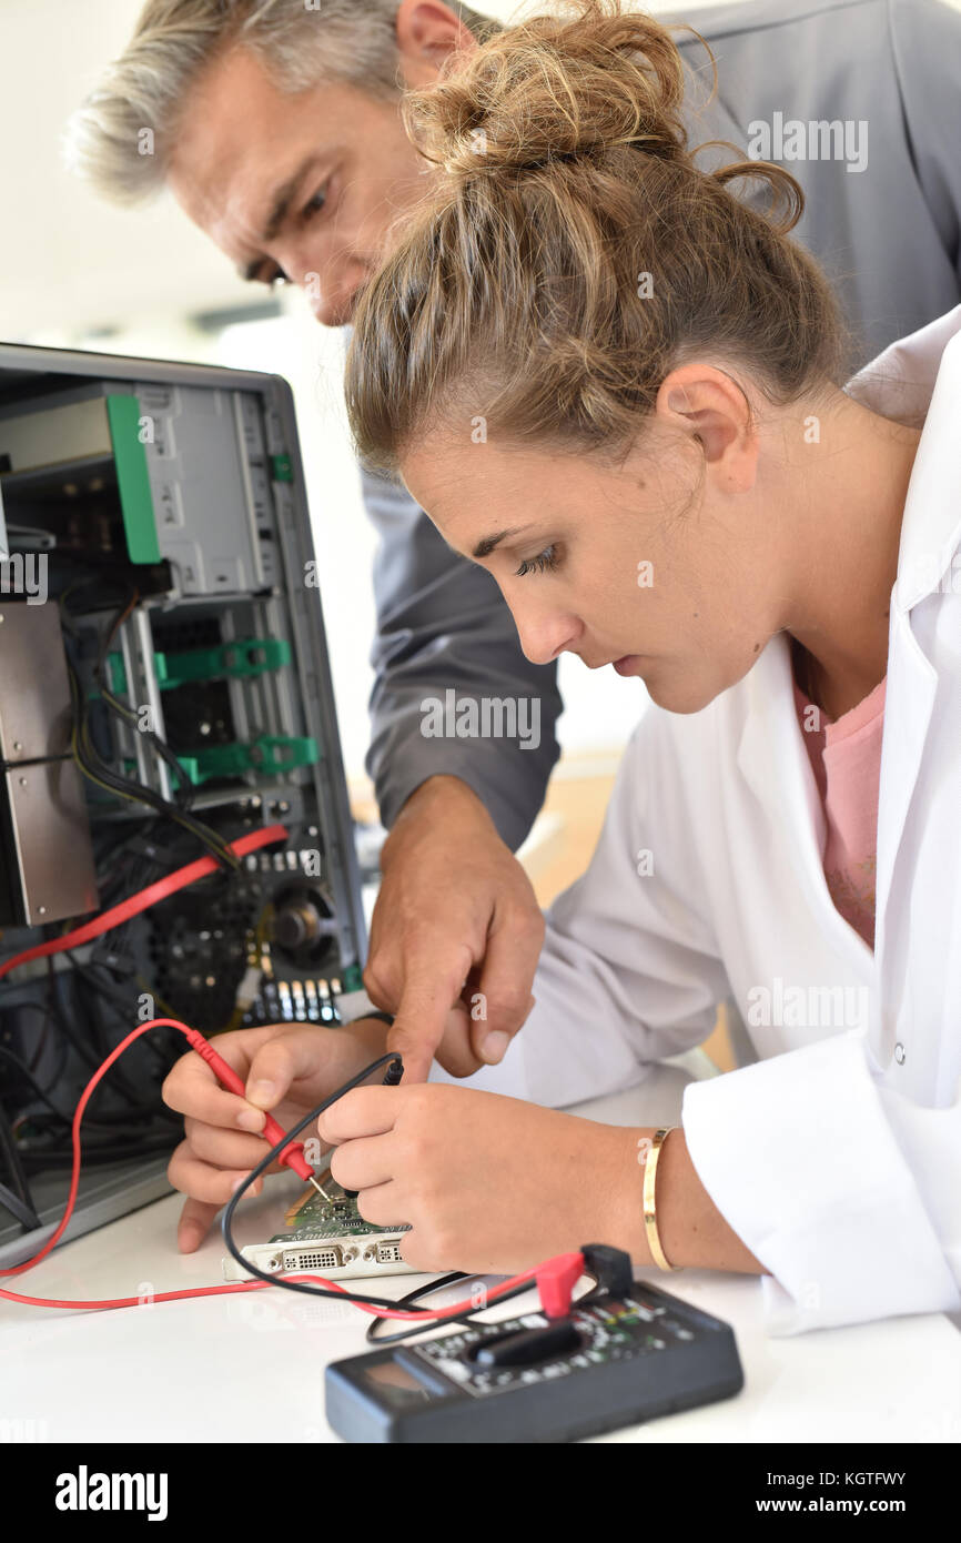
POLYGON ((683 1128, 771 1271, 770 1333, 961 1307, 961 307, 847 390, 926 414, 892 591, 875 952, 824 880, 782 634, 700 713, 648 708, 591 867, 549 912, 537 1006, 475 1079, 595 1097, 699 1045, 733 995, 759 1060, 688 1086, 683 1128))

